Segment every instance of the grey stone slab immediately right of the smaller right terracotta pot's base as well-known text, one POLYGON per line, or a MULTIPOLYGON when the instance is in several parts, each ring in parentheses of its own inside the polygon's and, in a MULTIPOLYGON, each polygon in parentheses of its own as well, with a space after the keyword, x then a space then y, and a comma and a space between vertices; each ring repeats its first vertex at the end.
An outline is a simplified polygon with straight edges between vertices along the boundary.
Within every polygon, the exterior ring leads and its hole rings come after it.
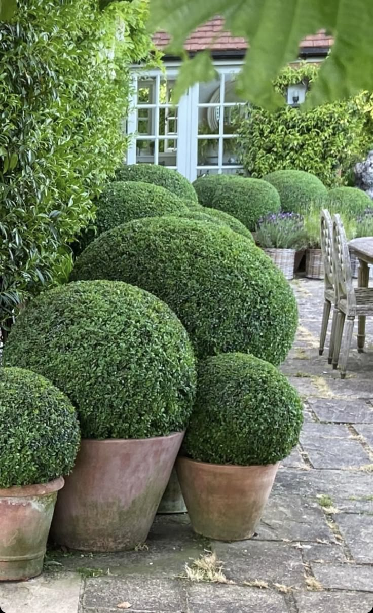
POLYGON ((257 530, 265 541, 317 541, 333 537, 317 502, 300 496, 271 496, 257 530))

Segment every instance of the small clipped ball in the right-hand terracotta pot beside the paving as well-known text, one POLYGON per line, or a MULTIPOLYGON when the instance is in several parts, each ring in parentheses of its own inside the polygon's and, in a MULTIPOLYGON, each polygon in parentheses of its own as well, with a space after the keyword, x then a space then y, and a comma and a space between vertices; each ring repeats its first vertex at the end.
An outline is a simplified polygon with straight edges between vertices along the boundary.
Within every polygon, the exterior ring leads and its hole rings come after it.
POLYGON ((199 365, 183 448, 193 460, 242 466, 274 464, 298 443, 302 403, 277 368, 227 353, 199 365))

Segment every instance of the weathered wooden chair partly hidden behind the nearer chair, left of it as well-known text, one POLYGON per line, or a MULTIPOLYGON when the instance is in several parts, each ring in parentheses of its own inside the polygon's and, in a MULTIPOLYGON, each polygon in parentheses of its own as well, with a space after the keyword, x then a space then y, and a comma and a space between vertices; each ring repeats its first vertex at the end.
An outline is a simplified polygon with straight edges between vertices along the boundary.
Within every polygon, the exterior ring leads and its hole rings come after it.
POLYGON ((334 282, 333 222, 331 220, 329 211, 326 209, 323 209, 321 211, 320 226, 321 226, 320 227, 321 252, 323 254, 324 269, 325 269, 325 277, 324 277, 325 287, 324 287, 323 321, 321 323, 320 346, 318 349, 318 354, 322 356, 324 352, 325 338, 326 338, 326 332, 328 330, 328 322, 329 322, 331 306, 334 305, 333 319, 332 319, 332 324, 331 324, 329 357, 328 357, 328 362, 329 364, 331 364, 333 361, 334 332, 336 329, 338 308, 337 308, 337 292, 336 292, 336 286, 334 282))

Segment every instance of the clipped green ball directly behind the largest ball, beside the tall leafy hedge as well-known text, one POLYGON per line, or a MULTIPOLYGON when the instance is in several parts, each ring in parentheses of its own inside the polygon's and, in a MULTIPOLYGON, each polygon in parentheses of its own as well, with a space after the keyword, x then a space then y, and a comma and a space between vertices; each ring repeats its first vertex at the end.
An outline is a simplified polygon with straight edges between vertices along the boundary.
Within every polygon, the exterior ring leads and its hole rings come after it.
MULTIPOLYGON (((168 189, 142 181, 113 181, 106 186, 97 202, 96 236, 142 217, 187 213, 182 199, 168 189)), ((90 233, 93 240, 94 232, 90 233)), ((84 246, 90 240, 83 239, 84 246)))

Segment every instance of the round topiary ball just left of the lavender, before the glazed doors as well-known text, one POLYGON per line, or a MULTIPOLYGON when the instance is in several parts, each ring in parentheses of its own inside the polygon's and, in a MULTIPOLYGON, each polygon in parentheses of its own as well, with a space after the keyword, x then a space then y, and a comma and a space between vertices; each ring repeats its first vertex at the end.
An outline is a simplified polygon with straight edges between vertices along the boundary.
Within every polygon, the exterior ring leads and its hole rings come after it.
POLYGON ((233 215, 253 231, 259 219, 280 210, 280 197, 267 181, 231 177, 215 189, 210 207, 233 215))

